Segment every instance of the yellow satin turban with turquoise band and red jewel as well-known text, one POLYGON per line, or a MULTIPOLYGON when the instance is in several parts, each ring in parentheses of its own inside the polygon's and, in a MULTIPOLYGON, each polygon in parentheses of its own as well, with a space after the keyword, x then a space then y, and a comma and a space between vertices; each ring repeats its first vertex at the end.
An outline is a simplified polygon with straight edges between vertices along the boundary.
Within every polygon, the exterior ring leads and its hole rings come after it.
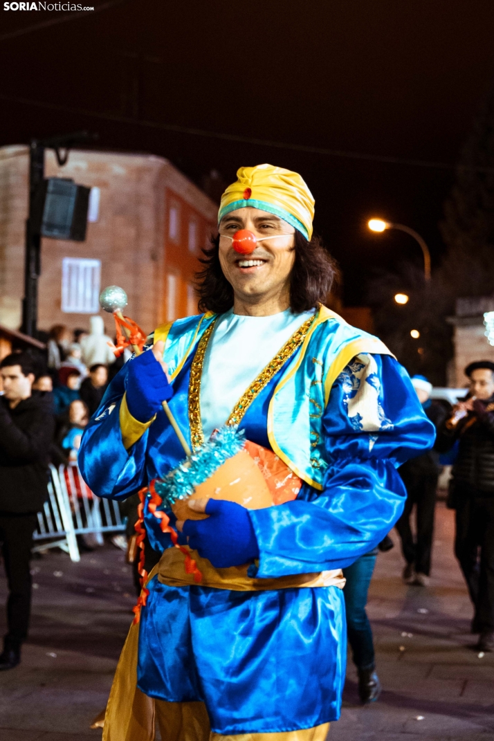
POLYGON ((218 224, 227 213, 251 206, 269 211, 301 232, 305 239, 313 233, 314 199, 298 173, 273 165, 241 167, 238 180, 221 196, 218 224))

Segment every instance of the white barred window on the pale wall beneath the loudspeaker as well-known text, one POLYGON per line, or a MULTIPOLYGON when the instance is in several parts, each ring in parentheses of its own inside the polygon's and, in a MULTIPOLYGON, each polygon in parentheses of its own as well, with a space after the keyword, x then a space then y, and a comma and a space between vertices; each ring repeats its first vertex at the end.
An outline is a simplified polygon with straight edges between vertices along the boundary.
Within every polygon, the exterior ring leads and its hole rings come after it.
POLYGON ((101 260, 64 257, 61 262, 61 310, 93 314, 99 311, 101 260))

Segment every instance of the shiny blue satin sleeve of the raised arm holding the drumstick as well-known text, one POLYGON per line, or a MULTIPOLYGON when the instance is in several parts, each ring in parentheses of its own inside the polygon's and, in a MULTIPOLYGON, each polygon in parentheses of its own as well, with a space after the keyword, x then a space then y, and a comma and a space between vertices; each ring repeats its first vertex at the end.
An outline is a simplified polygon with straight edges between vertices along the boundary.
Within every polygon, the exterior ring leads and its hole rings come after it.
POLYGON ((112 499, 126 499, 147 484, 147 431, 128 451, 121 437, 119 412, 126 376, 127 364, 108 386, 99 409, 85 428, 77 459, 91 491, 112 499))

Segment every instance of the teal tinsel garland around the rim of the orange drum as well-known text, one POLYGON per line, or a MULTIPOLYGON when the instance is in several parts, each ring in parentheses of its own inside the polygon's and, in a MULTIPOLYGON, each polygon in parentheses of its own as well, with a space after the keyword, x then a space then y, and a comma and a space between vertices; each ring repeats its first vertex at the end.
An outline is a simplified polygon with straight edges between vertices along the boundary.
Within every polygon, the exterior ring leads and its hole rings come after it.
POLYGON ((202 484, 229 458, 233 458, 244 447, 244 431, 224 425, 216 435, 204 442, 196 453, 182 462, 164 479, 158 479, 156 492, 163 499, 160 509, 170 507, 177 499, 187 499, 194 489, 202 484))

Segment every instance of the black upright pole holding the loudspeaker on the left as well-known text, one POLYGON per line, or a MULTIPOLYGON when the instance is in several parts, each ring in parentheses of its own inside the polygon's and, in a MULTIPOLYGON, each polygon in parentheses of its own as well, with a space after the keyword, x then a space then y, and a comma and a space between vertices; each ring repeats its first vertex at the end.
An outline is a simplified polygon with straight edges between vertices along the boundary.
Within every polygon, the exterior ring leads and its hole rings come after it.
POLYGON ((41 273, 41 235, 33 225, 36 193, 44 178, 44 146, 33 139, 29 158, 29 210, 26 221, 26 250, 24 264, 24 299, 22 302, 22 331, 36 337, 38 331, 38 279, 41 273))

